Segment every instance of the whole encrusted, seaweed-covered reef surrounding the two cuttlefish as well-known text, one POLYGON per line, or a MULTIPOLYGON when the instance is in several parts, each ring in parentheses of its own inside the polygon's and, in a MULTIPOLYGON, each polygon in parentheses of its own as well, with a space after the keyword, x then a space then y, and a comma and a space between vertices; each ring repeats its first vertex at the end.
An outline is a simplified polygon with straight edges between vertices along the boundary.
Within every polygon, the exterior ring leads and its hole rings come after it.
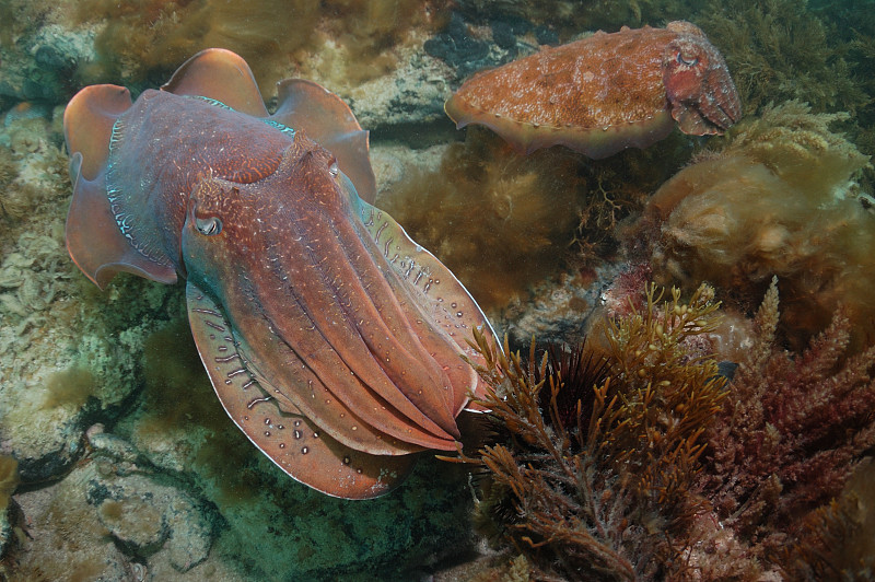
POLYGON ((870 0, 234 5, 0 5, 0 580, 872 575, 870 0), (723 137, 522 156, 444 115, 478 70, 678 19, 735 79, 723 137), (208 46, 266 96, 303 77, 350 103, 376 206, 523 349, 480 370, 495 414, 467 465, 366 502, 308 490, 221 408, 182 286, 100 292, 69 259, 63 105, 208 46))

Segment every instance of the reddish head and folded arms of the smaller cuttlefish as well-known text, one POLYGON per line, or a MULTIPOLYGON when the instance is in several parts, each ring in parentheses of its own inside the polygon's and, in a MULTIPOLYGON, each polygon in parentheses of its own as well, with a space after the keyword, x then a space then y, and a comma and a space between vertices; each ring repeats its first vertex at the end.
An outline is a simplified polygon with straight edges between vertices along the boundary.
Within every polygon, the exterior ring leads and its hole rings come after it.
POLYGON ((678 33, 663 54, 663 83, 672 117, 685 133, 722 133, 742 117, 726 61, 698 26, 673 22, 667 28, 678 33))

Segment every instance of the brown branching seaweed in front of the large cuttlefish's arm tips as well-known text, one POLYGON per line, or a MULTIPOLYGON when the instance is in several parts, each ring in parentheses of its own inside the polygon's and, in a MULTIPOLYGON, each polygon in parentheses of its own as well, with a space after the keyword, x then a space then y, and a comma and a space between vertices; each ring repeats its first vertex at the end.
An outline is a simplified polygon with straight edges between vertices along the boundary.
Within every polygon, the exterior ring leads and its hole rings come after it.
POLYGON ((476 336, 494 444, 463 458, 491 479, 480 520, 538 579, 661 580, 684 568, 667 536, 695 517, 687 490, 725 379, 685 347, 716 324, 713 291, 662 299, 650 287, 644 310, 608 322, 604 354, 553 348, 538 363, 534 342, 526 361, 476 336))

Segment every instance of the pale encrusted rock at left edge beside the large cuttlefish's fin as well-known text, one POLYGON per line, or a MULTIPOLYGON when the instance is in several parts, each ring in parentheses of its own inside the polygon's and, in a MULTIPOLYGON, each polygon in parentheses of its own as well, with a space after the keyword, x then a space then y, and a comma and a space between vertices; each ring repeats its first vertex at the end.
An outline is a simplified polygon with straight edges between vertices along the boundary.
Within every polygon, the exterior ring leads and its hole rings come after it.
POLYGON ((0 213, 0 453, 20 461, 25 482, 65 474, 85 428, 118 417, 137 388, 142 338, 174 310, 167 288, 119 278, 100 294, 75 271, 63 243, 67 158, 52 127, 42 115, 0 127, 0 207, 13 191, 24 201, 14 222, 0 213), (127 298, 140 301, 113 306, 127 298))

